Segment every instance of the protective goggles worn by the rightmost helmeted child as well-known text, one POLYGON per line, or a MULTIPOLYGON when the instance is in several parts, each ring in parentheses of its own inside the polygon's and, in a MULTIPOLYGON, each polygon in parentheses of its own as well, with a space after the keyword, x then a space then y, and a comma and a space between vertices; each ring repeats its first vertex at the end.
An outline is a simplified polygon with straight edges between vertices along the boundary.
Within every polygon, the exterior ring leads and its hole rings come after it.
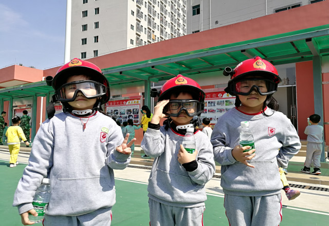
POLYGON ((261 78, 247 78, 233 81, 230 86, 232 93, 245 96, 249 95, 255 89, 260 95, 269 95, 275 93, 278 89, 278 84, 274 81, 261 78))

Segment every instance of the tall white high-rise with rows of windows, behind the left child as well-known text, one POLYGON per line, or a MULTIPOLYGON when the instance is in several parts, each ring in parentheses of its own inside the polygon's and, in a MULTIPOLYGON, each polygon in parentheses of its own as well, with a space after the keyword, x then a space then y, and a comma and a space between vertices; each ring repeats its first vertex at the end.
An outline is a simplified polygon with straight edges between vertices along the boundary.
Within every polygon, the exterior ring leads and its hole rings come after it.
POLYGON ((187 0, 67 1, 70 59, 92 58, 187 32, 187 0))

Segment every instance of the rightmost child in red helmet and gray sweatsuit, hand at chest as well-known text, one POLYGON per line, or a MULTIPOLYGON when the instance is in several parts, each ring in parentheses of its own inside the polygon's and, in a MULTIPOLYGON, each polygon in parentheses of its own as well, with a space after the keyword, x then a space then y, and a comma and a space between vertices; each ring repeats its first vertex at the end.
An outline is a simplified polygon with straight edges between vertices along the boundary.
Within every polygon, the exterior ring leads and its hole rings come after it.
POLYGON ((211 136, 215 160, 222 165, 226 216, 230 225, 279 225, 278 166, 286 168, 301 147, 296 129, 272 97, 281 79, 259 56, 242 61, 230 75, 225 91, 236 96, 236 108, 218 119, 211 136), (254 149, 239 145, 241 121, 249 121, 254 149))

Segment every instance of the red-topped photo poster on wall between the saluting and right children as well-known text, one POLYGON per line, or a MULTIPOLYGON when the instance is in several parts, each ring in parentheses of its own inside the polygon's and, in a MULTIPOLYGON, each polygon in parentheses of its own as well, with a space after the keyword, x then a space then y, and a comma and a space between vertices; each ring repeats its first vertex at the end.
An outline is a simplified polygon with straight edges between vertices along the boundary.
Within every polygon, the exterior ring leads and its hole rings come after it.
POLYGON ((210 118, 210 124, 216 124, 217 119, 225 112, 234 108, 235 97, 223 91, 207 92, 205 98, 205 110, 201 118, 210 118))

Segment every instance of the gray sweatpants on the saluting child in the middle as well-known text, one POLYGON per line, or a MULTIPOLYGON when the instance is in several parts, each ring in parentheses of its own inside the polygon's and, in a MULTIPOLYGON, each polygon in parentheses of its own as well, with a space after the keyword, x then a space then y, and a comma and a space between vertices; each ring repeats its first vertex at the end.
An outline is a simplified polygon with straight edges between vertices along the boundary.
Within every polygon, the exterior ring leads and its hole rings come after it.
POLYGON ((205 206, 173 207, 149 199, 150 226, 202 226, 205 206))

